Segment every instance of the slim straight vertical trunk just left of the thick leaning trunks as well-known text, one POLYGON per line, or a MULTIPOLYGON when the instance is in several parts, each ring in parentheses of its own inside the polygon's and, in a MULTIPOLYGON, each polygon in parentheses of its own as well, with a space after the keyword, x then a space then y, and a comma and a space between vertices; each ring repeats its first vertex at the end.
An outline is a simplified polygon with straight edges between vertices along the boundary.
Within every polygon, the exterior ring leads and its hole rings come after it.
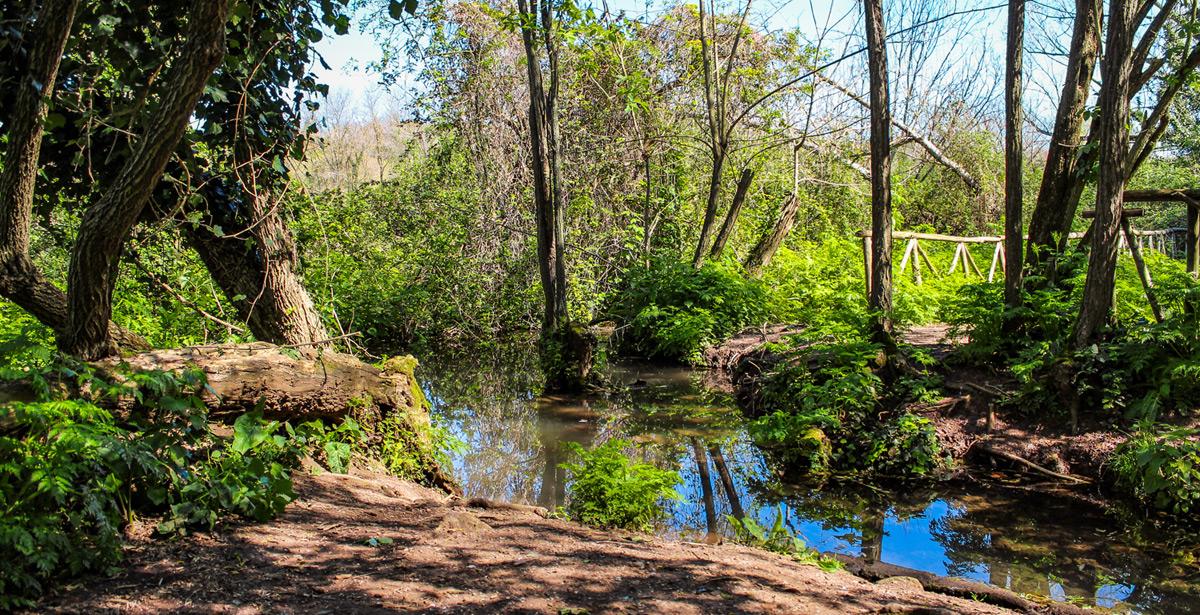
POLYGON ((1021 167, 1022 52, 1025 46, 1025 0, 1008 0, 1008 59, 1004 66, 1004 305, 1021 305, 1021 249, 1024 246, 1021 203, 1025 184, 1021 167))

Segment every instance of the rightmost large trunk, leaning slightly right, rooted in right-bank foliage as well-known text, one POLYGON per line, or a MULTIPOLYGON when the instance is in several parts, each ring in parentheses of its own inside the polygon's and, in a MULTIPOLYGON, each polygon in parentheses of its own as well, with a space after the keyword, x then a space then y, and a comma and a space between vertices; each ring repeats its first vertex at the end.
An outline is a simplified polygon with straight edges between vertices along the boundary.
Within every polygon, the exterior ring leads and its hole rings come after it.
POLYGON ((1084 283, 1084 303, 1075 322, 1074 346, 1091 344, 1112 309, 1117 237, 1121 232, 1129 142, 1129 90, 1133 73, 1135 0, 1112 0, 1104 43, 1099 112, 1100 177, 1096 189, 1096 220, 1084 283))

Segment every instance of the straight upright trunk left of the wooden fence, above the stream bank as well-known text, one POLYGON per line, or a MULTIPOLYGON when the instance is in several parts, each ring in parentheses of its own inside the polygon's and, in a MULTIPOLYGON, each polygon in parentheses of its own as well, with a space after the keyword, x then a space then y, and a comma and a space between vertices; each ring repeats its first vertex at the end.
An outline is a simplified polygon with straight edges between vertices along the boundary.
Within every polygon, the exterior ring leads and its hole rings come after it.
POLYGON ((863 0, 871 79, 871 292, 876 339, 894 347, 892 324, 892 119, 882 0, 863 0))

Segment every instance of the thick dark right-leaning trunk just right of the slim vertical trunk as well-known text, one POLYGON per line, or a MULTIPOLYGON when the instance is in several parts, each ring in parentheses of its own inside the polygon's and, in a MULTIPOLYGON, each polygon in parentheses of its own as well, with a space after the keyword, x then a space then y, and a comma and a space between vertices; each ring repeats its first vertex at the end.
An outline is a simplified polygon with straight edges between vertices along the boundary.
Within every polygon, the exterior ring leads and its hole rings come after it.
MULTIPOLYGON (((1084 127, 1084 109, 1091 92, 1092 72, 1099 50, 1100 7, 1098 0, 1075 0, 1075 26, 1067 55, 1067 76, 1058 98, 1050 149, 1042 173, 1042 187, 1030 217, 1030 239, 1026 259, 1038 265, 1044 255, 1060 249, 1056 235, 1066 241, 1075 207, 1072 198, 1079 178, 1079 149, 1084 127)), ((1009 261, 1008 267, 1016 263, 1009 261)))

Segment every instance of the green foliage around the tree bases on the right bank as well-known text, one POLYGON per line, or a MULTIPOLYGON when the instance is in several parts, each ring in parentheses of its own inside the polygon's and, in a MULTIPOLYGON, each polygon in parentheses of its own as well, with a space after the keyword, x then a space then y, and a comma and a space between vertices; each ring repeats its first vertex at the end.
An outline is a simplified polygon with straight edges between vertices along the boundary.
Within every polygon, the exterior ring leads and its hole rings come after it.
POLYGON ((1020 383, 1009 402, 1025 412, 1062 412, 1063 387, 1082 400, 1085 411, 1109 418, 1154 419, 1194 410, 1200 399, 1200 316, 1184 305, 1200 304, 1200 287, 1178 263, 1160 255, 1147 258, 1166 312, 1162 323, 1148 317, 1136 273, 1122 259, 1116 326, 1096 344, 1073 348, 1085 273, 1082 258, 1072 252, 1061 261, 1058 283, 1028 281, 1024 305, 1008 312, 1020 322, 1016 335, 1003 329, 998 286, 964 287, 961 300, 946 311, 953 333, 970 339, 954 360, 1003 365, 1020 383), (1069 374, 1070 381, 1048 387, 1055 374, 1069 374))

